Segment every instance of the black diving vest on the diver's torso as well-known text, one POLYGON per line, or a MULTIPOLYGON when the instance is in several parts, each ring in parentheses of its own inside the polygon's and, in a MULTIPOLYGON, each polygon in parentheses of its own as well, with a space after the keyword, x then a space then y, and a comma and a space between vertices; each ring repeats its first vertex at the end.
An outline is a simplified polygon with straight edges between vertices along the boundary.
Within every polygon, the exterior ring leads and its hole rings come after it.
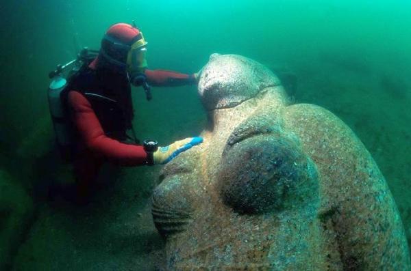
POLYGON ((66 100, 69 91, 79 91, 86 97, 105 135, 119 141, 127 140, 126 131, 132 128, 134 109, 131 87, 126 76, 82 68, 69 79, 68 86, 60 96, 66 110, 69 110, 66 100))

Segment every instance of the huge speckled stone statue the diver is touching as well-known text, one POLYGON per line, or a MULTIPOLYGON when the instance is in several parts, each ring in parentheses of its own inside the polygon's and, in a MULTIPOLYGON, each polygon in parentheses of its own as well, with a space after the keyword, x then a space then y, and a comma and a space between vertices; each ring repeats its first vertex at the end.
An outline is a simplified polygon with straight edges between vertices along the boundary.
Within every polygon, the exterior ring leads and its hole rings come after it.
POLYGON ((340 119, 290 104, 270 70, 238 55, 212 55, 199 94, 204 143, 153 193, 168 270, 410 269, 384 177, 340 119))

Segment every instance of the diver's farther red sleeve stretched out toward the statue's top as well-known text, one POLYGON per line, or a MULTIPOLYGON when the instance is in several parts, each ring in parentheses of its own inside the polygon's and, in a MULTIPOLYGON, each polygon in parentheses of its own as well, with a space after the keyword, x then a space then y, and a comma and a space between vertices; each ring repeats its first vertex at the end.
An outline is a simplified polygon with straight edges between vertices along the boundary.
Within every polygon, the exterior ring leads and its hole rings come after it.
POLYGON ((145 76, 147 83, 154 87, 176 87, 197 83, 194 74, 181 74, 169 70, 145 70, 145 76))

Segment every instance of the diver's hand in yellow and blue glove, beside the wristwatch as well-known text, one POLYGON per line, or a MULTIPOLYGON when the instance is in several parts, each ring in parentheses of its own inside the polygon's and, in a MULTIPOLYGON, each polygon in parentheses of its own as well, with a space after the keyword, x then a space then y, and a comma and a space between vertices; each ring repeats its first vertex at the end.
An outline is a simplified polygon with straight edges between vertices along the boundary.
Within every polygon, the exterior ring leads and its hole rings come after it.
POLYGON ((175 141, 175 143, 166 147, 158 147, 158 149, 153 152, 154 164, 166 164, 175 158, 175 156, 201 142, 203 142, 202 137, 188 137, 187 139, 175 141))

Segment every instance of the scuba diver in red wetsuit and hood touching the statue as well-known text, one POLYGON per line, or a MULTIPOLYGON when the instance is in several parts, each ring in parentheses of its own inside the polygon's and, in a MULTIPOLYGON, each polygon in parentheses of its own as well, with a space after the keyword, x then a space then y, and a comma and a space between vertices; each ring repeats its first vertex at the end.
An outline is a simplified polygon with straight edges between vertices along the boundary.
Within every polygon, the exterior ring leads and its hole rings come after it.
POLYGON ((158 147, 156 141, 129 143, 127 130, 132 130, 134 117, 131 85, 142 86, 150 100, 150 86, 197 84, 199 76, 149 70, 146 52, 147 42, 137 27, 112 25, 101 40, 97 57, 82 65, 61 91, 60 101, 73 134, 73 142, 66 148, 73 152, 75 197, 80 201, 90 194, 104 162, 120 166, 165 164, 203 141, 192 137, 166 147, 158 147))

